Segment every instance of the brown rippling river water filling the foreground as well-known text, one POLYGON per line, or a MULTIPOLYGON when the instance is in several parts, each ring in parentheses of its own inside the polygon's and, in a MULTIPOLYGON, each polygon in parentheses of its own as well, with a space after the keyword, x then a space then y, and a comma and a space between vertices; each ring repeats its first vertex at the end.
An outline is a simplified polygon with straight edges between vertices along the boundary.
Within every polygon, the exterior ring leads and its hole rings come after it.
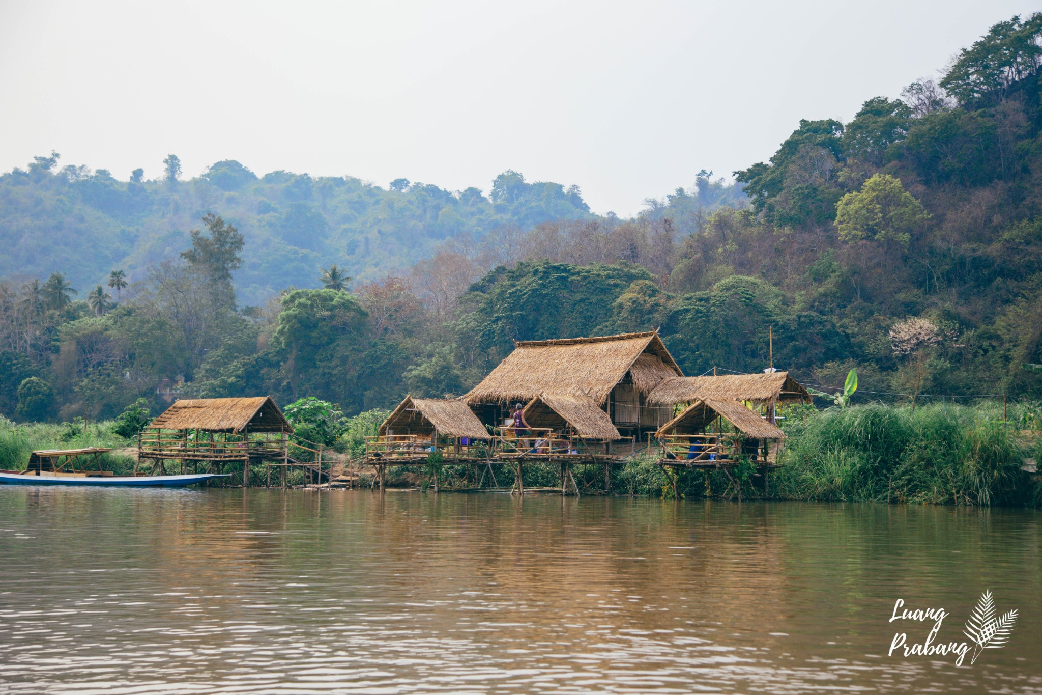
POLYGON ((0 488, 0 691, 1042 692, 1040 588, 1025 511, 0 488))

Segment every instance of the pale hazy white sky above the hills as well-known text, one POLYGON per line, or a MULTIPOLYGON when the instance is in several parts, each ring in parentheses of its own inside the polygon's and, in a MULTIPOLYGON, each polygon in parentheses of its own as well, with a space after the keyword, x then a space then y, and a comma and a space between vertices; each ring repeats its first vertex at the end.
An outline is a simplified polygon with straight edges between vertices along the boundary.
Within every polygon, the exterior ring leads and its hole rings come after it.
POLYGON ((637 213, 936 77, 1031 2, 0 0, 0 170, 219 159, 488 190, 514 169, 637 213))

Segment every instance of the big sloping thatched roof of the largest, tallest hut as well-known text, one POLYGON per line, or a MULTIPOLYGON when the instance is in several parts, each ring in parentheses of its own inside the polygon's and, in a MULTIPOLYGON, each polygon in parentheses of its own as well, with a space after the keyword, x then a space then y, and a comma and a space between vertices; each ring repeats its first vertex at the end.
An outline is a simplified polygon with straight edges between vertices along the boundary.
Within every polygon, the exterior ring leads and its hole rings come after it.
POLYGON ((654 331, 528 341, 518 343, 464 398, 468 403, 526 403, 553 393, 589 396, 602 405, 627 372, 642 393, 667 375, 684 374, 654 331))

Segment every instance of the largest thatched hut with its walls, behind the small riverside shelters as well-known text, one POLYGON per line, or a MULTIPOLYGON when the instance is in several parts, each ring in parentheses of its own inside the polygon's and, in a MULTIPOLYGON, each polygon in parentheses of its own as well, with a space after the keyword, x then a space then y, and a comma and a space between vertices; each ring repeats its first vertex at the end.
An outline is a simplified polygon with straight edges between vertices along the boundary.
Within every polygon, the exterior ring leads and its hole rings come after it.
POLYGON ((492 423, 512 403, 544 394, 585 396, 615 426, 647 429, 671 415, 668 407, 648 406, 647 394, 663 379, 683 375, 654 331, 526 341, 464 398, 492 423))

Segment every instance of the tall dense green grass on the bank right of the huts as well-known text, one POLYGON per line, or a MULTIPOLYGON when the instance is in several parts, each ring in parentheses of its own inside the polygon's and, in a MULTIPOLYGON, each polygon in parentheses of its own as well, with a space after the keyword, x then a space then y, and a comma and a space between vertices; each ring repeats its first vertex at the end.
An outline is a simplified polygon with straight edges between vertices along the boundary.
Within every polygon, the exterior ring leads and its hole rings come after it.
POLYGON ((1021 470, 1031 446, 1001 405, 859 405, 787 427, 772 487, 792 499, 1023 505, 1038 483, 1021 470))

